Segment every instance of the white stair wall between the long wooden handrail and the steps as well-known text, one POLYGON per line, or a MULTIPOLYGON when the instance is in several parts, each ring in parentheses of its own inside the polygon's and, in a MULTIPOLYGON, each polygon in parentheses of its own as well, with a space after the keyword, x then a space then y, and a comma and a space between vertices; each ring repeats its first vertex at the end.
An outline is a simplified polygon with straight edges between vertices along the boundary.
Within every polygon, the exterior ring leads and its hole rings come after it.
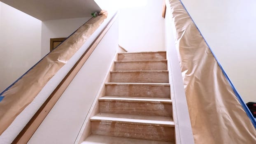
MULTIPOLYGON (((107 20, 102 23, 99 29, 102 30, 106 24, 107 20)), ((87 43, 88 46, 91 44, 90 41, 93 40, 91 37, 87 41, 89 42, 87 43)), ((86 63, 81 67, 28 144, 74 143, 112 64, 117 49, 118 20, 114 22, 86 63)))

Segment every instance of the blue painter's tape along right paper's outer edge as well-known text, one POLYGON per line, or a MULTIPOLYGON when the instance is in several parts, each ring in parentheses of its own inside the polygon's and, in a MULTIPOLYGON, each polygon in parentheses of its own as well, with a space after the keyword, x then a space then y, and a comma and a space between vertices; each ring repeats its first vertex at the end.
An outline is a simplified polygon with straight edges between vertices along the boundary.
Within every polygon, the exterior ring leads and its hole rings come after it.
MULTIPOLYGON (((179 0, 182 4, 182 6, 184 7, 184 9, 186 10, 186 12, 189 14, 188 10, 186 9, 185 5, 183 4, 182 0, 179 0)), ((200 35, 202 36, 202 38, 205 40, 205 37, 202 35, 201 31, 199 30, 198 26, 195 24, 195 21, 192 19, 192 16, 189 14, 189 17, 191 18, 191 20, 193 21, 195 27, 198 29, 200 35)), ((212 52, 212 55, 214 56, 214 58, 216 59, 219 67, 221 68, 224 76, 226 77, 226 79, 228 80, 231 88, 233 89, 237 99, 239 100, 240 104, 242 105, 242 107, 244 108, 244 111, 246 112, 247 116, 250 118, 252 124, 254 125, 254 127, 256 128, 256 119, 254 118, 254 116, 251 114, 251 111, 248 109, 247 105, 244 103, 244 101, 242 100, 240 94, 237 92, 235 86, 233 85, 233 83, 230 81, 227 73, 225 72, 225 70, 223 69, 223 67, 221 66, 219 60, 217 59, 217 57, 215 56, 215 54, 213 53, 211 47, 209 46, 209 44, 207 43, 207 41, 205 40, 205 43, 207 44, 208 48, 210 49, 210 51, 212 52)))

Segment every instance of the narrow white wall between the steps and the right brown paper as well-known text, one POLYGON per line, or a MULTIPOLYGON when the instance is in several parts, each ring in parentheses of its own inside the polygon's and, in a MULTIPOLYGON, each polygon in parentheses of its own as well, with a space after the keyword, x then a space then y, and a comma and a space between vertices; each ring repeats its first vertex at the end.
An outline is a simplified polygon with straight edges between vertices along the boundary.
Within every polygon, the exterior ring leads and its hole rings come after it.
POLYGON ((169 81, 173 106, 173 119, 175 122, 176 144, 194 144, 194 137, 189 117, 189 109, 186 101, 181 67, 177 51, 175 49, 175 32, 172 19, 168 19, 170 12, 169 0, 165 0, 165 46, 168 59, 169 81), (166 28, 170 29, 166 29, 166 28), (167 31, 168 30, 168 31, 167 31), (170 37, 166 37, 169 35, 170 37), (167 39, 169 38, 169 39, 167 39))

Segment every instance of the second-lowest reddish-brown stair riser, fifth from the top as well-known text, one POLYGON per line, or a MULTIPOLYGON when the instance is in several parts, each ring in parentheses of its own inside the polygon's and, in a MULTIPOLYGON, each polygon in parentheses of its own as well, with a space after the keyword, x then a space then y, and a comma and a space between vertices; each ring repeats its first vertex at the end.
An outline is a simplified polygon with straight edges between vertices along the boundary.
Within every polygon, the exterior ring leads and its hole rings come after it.
POLYGON ((172 104, 152 102, 100 101, 101 113, 172 116, 172 104))

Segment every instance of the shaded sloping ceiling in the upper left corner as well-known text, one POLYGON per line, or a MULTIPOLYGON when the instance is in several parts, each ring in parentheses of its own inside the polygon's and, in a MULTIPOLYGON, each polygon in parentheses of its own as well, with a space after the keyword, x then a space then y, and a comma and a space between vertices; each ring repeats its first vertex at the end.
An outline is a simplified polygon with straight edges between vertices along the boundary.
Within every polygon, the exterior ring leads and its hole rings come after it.
POLYGON ((99 12, 94 0, 0 0, 41 21, 90 17, 99 12))

